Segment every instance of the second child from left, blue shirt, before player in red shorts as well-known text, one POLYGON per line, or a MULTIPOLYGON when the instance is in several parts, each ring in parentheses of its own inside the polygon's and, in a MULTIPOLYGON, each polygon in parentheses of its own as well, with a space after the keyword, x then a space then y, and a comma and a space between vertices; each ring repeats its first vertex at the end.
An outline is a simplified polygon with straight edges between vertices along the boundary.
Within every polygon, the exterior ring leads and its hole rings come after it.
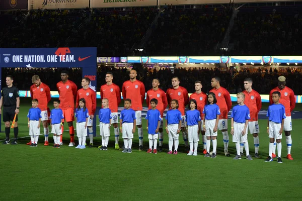
POLYGON ((62 119, 64 119, 63 111, 59 108, 60 100, 56 99, 53 101, 54 109, 50 112, 50 127, 51 133, 53 133, 53 148, 60 148, 60 135, 62 135, 62 119))

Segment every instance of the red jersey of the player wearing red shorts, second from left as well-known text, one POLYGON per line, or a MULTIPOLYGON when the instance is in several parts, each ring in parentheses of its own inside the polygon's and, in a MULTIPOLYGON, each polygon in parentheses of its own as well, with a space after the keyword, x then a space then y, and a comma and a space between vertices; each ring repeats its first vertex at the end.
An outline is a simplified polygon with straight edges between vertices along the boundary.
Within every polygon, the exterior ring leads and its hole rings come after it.
POLYGON ((74 108, 74 101, 77 98, 78 87, 73 81, 67 80, 65 83, 59 81, 57 83, 59 92, 60 109, 74 108))

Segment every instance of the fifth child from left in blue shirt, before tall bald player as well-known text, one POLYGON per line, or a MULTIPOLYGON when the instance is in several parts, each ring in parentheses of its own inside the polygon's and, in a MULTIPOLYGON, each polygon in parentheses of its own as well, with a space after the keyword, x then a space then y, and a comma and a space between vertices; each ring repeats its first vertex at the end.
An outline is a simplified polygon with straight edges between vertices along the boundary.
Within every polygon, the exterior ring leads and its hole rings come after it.
POLYGON ((132 139, 135 133, 136 117, 135 111, 131 109, 131 99, 126 98, 125 109, 120 114, 120 132, 123 134, 124 150, 122 153, 132 153, 132 139))

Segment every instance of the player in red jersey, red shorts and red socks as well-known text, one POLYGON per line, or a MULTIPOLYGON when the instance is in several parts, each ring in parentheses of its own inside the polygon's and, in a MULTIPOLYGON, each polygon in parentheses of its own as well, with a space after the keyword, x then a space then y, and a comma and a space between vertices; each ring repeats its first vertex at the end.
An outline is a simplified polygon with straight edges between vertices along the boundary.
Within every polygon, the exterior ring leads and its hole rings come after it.
MULTIPOLYGON (((59 100, 60 100, 60 109, 63 111, 64 119, 62 120, 62 124, 64 124, 64 120, 66 120, 69 127, 69 135, 70 135, 70 143, 69 145, 74 146, 74 127, 72 122, 74 121, 74 102, 77 98, 77 90, 78 87, 75 85, 73 81, 68 79, 68 72, 63 70, 61 72, 61 80, 56 84, 57 90, 59 92, 59 100)), ((63 126, 62 126, 62 135, 60 144, 62 144, 62 136, 63 136, 63 126)))

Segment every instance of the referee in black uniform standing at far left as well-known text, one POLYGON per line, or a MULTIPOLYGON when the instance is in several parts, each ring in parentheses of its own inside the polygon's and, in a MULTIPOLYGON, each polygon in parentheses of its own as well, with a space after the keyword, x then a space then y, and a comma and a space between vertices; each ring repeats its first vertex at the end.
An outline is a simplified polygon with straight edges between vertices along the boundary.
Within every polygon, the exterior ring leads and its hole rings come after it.
MULTIPOLYGON (((10 124, 11 121, 13 122, 15 113, 19 113, 19 107, 20 107, 20 97, 19 97, 19 90, 17 87, 13 86, 14 78, 11 75, 8 75, 6 77, 6 83, 8 87, 4 87, 2 89, 2 96, 0 99, 0 114, 3 114, 3 121, 5 122, 5 135, 6 140, 3 142, 3 144, 9 144, 10 143, 10 124), (3 111, 1 111, 1 108, 3 106, 3 111)), ((11 144, 18 144, 17 138, 19 133, 18 128, 18 115, 16 117, 16 122, 14 126, 14 141, 11 144)))

